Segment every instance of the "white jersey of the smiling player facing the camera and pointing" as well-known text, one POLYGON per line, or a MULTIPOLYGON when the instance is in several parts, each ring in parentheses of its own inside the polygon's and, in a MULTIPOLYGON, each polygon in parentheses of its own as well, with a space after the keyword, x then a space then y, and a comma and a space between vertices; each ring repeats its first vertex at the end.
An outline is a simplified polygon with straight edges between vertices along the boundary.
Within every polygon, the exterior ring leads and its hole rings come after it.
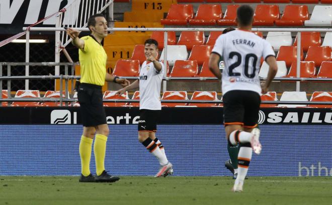
MULTIPOLYGON (((160 62, 160 61, 159 61, 160 62)), ((153 62, 144 61, 139 71, 139 109, 161 110, 160 87, 163 77, 163 63, 158 73, 153 62)))

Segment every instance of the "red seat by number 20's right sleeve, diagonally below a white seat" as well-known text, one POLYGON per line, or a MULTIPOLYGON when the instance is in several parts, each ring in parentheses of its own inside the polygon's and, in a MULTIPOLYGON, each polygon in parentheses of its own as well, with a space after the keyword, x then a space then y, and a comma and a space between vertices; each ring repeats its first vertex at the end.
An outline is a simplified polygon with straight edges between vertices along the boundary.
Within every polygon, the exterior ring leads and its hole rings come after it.
MULTIPOLYGON (((277 54, 277 60, 285 61, 286 66, 291 66, 293 61, 297 59, 297 47, 296 46, 280 46, 277 54)), ((300 60, 303 60, 303 50, 301 49, 300 60)))

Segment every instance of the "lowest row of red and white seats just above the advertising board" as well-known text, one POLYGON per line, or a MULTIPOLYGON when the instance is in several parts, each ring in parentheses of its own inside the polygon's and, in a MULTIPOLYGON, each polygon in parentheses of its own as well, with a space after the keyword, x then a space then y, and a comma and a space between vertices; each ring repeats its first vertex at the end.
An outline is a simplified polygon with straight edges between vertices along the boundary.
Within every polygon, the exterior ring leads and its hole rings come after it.
MULTIPOLYGON (((62 93, 64 97, 64 92, 62 93)), ((7 90, 2 92, 3 98, 8 98, 7 90)), ((39 90, 19 90, 17 91, 16 98, 40 98, 39 90)), ((139 91, 136 91, 132 97, 133 100, 139 100, 139 91)), ((60 98, 59 91, 47 91, 44 98, 60 98)), ((116 95, 116 91, 106 91, 103 99, 129 99, 128 92, 119 96, 116 95)), ((161 100, 188 100, 187 91, 165 91, 162 94, 161 100)), ((195 91, 191 97, 191 100, 209 100, 217 101, 217 92, 208 91, 195 91)), ((222 100, 222 99, 221 99, 222 100)), ((277 101, 276 92, 268 92, 261 96, 262 101, 277 101)), ((280 98, 281 101, 308 101, 305 92, 284 92, 280 98)), ((327 101, 332 102, 332 92, 314 92, 310 98, 310 101, 327 101)), ((3 106, 7 106, 7 102, 2 103, 3 106)), ((63 103, 63 106, 65 104, 63 103)), ((14 102, 12 106, 59 106, 59 103, 54 102, 14 102)), ((78 103, 73 103, 73 106, 79 106, 78 103)), ((139 103, 113 103, 105 102, 106 107, 120 107, 130 106, 138 107, 139 103)), ((220 103, 162 103, 163 107, 176 107, 176 106, 195 106, 195 107, 211 107, 211 106, 222 106, 220 103)), ((304 107, 305 105, 277 105, 277 104, 262 104, 261 107, 304 107)), ((320 107, 320 108, 332 108, 332 105, 308 105, 307 107, 320 107)))

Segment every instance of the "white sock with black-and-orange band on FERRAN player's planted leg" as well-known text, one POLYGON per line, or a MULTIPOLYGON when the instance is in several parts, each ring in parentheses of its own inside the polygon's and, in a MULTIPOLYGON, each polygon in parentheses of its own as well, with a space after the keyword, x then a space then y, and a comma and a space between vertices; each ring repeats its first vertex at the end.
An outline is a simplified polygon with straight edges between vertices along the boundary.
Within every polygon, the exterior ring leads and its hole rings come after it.
POLYGON ((237 177, 235 179, 235 184, 243 183, 243 180, 246 176, 246 173, 248 171, 249 162, 252 159, 252 153, 253 149, 250 147, 241 147, 238 156, 238 172, 237 177))

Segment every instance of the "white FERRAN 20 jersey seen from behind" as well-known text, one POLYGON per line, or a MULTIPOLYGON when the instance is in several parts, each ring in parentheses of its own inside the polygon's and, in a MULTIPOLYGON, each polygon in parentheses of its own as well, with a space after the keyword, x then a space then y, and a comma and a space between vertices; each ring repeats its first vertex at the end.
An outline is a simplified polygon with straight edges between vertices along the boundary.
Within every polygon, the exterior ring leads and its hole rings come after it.
POLYGON ((220 35, 212 52, 223 56, 222 93, 230 90, 250 90, 261 94, 258 73, 262 56, 266 59, 275 53, 272 46, 258 35, 242 30, 220 35))

